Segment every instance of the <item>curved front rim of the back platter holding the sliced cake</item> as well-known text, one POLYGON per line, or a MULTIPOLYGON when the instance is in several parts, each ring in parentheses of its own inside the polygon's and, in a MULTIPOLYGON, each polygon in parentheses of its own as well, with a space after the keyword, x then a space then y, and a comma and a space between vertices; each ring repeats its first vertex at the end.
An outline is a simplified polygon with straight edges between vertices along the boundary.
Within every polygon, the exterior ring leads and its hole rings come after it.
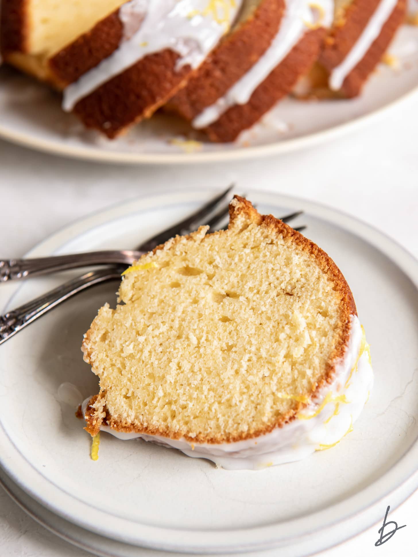
POLYGON ((366 114, 352 118, 347 122, 331 125, 328 128, 314 133, 308 133, 299 138, 288 140, 278 140, 266 145, 255 145, 249 147, 236 147, 231 150, 219 150, 215 152, 194 152, 194 153, 118 153, 105 149, 89 149, 72 146, 68 144, 56 143, 54 139, 37 139, 31 134, 25 134, 11 130, 9 126, 0 123, 0 138, 36 150, 37 152, 49 153, 70 159, 90 160, 91 162, 101 162, 108 164, 121 165, 153 165, 153 164, 193 164, 193 163, 212 163, 229 162, 242 159, 254 159, 258 157, 268 157, 273 154, 291 153, 304 148, 320 145, 326 141, 337 139, 340 136, 355 131, 368 123, 372 123, 390 113, 398 105, 410 101, 418 96, 418 84, 409 91, 387 102, 380 108, 373 109, 366 114))

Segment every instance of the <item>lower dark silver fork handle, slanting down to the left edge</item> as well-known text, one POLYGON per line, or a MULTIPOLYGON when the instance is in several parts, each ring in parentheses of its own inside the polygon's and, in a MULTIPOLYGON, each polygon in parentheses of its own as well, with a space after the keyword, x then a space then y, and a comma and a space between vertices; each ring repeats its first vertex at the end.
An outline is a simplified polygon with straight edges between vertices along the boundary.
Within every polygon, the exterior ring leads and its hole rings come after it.
POLYGON ((38 317, 72 296, 101 282, 120 280, 120 274, 125 267, 108 267, 98 271, 91 271, 81 277, 73 278, 65 284, 50 290, 17 309, 8 311, 0 316, 0 344, 6 342, 13 335, 33 323, 38 317))

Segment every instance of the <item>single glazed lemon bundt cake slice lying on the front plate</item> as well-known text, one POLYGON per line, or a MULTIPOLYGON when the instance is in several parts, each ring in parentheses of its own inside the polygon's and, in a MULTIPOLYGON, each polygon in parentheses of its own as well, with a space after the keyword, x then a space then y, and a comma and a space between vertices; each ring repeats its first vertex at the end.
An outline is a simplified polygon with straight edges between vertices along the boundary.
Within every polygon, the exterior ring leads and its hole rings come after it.
POLYGON ((262 468, 351 431, 372 385, 347 282, 314 243, 245 199, 148 253, 84 335, 100 392, 86 429, 225 468, 262 468))

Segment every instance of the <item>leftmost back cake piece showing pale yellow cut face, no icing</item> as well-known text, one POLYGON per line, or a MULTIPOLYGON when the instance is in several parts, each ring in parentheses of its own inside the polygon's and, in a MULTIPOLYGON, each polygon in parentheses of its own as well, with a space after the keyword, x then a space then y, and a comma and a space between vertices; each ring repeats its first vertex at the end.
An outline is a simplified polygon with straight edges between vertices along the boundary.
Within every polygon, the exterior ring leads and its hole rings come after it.
POLYGON ((1 0, 0 51, 4 60, 55 84, 48 62, 108 16, 124 0, 1 0))

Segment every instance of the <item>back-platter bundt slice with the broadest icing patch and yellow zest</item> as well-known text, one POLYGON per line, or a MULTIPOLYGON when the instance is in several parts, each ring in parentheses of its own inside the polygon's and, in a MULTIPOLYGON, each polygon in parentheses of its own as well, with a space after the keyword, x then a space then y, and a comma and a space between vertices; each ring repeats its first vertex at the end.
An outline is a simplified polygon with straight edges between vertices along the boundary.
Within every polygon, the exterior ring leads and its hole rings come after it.
POLYGON ((200 67, 242 0, 130 0, 59 52, 64 109, 114 138, 149 118, 200 67))

